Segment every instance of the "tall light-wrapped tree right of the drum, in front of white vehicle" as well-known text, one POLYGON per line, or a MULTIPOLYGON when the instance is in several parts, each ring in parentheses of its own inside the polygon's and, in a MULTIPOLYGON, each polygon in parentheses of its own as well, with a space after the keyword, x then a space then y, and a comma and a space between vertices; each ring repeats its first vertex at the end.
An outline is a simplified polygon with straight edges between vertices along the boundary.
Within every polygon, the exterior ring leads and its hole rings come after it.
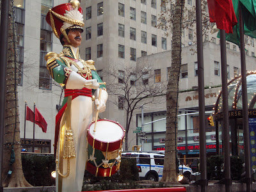
MULTIPOLYGON (((172 65, 166 92, 166 138, 164 170, 161 182, 177 183, 177 125, 178 125, 178 98, 179 76, 182 51, 182 31, 184 28, 195 28, 195 6, 185 7, 185 0, 164 0, 162 11, 159 15, 157 28, 166 30, 166 36, 172 35, 172 65)), ((207 39, 207 29, 211 27, 207 17, 207 1, 202 0, 202 23, 204 38, 207 39)), ((191 34, 194 35, 194 34, 191 34)))

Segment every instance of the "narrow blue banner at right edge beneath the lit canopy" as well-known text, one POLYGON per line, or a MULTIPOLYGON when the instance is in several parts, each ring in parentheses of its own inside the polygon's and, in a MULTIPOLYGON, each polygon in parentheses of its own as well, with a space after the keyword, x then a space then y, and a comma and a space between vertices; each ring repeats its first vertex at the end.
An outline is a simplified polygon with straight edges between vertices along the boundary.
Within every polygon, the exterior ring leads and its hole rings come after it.
POLYGON ((250 150, 251 150, 251 166, 256 168, 256 118, 249 118, 249 131, 250 131, 250 150))

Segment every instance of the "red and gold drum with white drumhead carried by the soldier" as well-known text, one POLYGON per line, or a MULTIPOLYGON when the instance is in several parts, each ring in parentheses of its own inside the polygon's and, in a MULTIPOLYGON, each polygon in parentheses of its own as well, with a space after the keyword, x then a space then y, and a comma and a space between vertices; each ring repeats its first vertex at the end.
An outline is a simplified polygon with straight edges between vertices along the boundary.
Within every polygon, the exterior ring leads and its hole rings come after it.
POLYGON ((89 125, 87 132, 88 161, 86 170, 98 177, 110 177, 121 163, 124 128, 111 120, 98 120, 89 125))

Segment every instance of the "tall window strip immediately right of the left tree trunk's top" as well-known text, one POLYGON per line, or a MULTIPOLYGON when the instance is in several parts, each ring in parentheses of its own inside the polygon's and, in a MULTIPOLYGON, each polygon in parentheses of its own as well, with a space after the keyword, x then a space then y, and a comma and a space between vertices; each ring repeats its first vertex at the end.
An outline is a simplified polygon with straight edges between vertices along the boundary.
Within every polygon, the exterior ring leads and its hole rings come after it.
MULTIPOLYGON (((24 63, 24 23, 25 23, 25 10, 24 10, 24 1, 13 1, 15 6, 15 24, 17 26, 17 60, 19 63, 19 76, 18 84, 22 86, 23 80, 23 63, 24 63)), ((45 17, 44 17, 45 19, 45 17)), ((45 22, 45 21, 44 21, 45 22)))

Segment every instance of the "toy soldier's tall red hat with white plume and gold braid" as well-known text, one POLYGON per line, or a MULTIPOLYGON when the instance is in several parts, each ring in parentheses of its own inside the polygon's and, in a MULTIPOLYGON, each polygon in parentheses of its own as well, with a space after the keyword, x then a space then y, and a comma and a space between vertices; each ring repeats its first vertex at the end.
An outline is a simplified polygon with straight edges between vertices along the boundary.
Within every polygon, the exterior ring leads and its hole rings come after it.
POLYGON ((49 9, 45 20, 52 27, 52 31, 57 38, 60 38, 60 35, 63 34, 68 41, 66 29, 83 29, 84 26, 83 10, 77 0, 49 9))

